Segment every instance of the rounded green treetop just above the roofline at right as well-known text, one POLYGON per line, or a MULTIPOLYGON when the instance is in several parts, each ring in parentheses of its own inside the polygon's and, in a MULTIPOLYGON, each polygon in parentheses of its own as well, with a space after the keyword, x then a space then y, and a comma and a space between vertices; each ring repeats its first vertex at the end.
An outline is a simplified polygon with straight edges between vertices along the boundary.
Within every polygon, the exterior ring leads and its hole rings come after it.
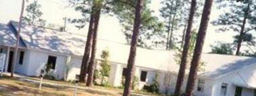
POLYGON ((211 45, 211 53, 215 54, 233 54, 232 44, 217 43, 217 45, 211 45))

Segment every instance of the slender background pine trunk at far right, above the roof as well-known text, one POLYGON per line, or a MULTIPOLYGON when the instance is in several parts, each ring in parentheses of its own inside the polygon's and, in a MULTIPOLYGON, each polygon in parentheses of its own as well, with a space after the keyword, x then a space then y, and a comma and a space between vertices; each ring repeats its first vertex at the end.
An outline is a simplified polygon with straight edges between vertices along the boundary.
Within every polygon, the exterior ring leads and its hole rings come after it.
POLYGON ((242 20, 242 26, 241 26, 240 34, 239 34, 239 37, 238 37, 238 45, 237 45, 237 48, 236 48, 236 55, 240 54, 240 48, 241 48, 241 45, 242 45, 242 36, 245 34, 244 33, 244 26, 245 26, 245 23, 247 22, 247 17, 248 17, 248 14, 249 14, 249 10, 250 10, 250 3, 248 3, 248 5, 247 5, 247 11, 244 11, 244 19, 242 20))

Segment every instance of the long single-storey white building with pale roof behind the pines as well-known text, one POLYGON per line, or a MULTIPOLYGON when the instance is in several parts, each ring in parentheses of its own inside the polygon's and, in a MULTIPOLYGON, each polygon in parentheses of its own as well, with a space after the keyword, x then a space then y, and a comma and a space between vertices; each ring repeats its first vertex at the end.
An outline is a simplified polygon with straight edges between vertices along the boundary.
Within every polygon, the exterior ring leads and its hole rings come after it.
MULTIPOLYGON (((18 30, 15 21, 0 23, 0 52, 6 54, 4 71, 10 72, 18 30)), ((38 77, 45 64, 53 64, 56 79, 74 80, 80 73, 86 36, 46 28, 22 25, 15 73, 38 77)), ((110 84, 121 86, 123 70, 127 66, 129 45, 98 40, 96 59, 102 50, 110 53, 110 84)), ((158 73, 161 93, 173 93, 179 65, 174 51, 137 48, 135 76, 139 89, 150 85, 158 73)), ((256 58, 221 54, 202 54, 204 71, 198 72, 194 88, 196 96, 255 96, 256 58)), ((188 70, 187 70, 188 71, 188 70)), ((184 91, 186 82, 182 87, 184 91)))

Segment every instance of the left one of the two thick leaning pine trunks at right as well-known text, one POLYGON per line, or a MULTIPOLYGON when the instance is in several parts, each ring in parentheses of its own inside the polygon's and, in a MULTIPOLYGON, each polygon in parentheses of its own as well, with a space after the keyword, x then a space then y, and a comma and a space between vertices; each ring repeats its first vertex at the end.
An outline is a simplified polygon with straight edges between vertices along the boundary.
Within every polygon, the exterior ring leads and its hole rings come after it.
POLYGON ((181 58, 182 60, 179 66, 179 74, 178 74, 177 83, 175 86, 175 96, 181 95, 181 89, 182 89, 182 85, 183 85, 184 77, 186 73, 188 50, 190 47, 191 30, 192 30, 192 23, 193 23, 195 11, 196 11, 196 0, 192 0, 191 7, 190 7, 190 15, 188 17, 188 28, 186 29, 185 44, 182 51, 182 58, 181 58))

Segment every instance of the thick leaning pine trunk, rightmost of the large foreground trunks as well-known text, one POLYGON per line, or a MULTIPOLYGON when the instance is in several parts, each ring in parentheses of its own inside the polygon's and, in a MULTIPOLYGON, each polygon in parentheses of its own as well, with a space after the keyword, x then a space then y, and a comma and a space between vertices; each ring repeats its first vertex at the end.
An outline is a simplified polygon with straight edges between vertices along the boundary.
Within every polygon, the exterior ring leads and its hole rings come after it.
POLYGON ((205 35, 207 33, 207 27, 209 23, 209 18, 211 14, 211 6, 213 5, 213 0, 206 0, 204 9, 202 11, 202 19, 200 22, 200 28, 198 31, 198 38, 196 38, 196 46, 194 49, 194 55, 191 61, 190 73, 188 75, 188 83, 186 87, 186 96, 192 96, 194 91, 194 85, 197 77, 197 70, 199 61, 202 54, 202 46, 205 42, 205 35))

